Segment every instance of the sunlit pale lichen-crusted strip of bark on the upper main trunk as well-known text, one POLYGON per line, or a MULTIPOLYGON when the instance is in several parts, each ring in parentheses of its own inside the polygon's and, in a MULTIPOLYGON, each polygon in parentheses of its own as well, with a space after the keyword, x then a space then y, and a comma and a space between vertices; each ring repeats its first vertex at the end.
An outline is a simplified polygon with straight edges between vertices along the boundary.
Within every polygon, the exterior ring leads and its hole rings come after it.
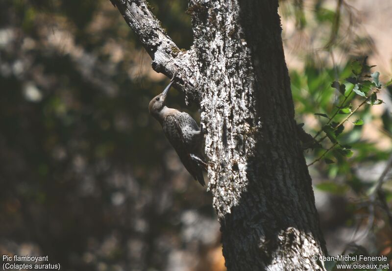
POLYGON ((209 189, 219 218, 230 213, 246 190, 247 158, 255 148, 260 122, 255 121, 250 51, 237 29, 238 6, 218 1, 191 1, 194 49, 201 78, 201 122, 209 158, 209 189), (202 8, 201 8, 202 7, 202 8), (213 116, 214 121, 210 121, 213 116))

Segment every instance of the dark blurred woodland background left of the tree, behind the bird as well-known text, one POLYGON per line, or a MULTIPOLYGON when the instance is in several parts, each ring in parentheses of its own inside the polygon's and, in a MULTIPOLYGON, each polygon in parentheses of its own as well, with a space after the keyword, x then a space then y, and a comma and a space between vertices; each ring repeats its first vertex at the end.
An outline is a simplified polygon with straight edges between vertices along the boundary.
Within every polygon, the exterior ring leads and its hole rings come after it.
MULTIPOLYGON (((152 4, 189 47, 184 1, 152 4)), ((154 270, 219 247, 211 195, 148 114, 168 80, 143 71, 148 55, 117 9, 1 1, 0 18, 1 254, 154 270)), ((169 103, 184 107, 175 90, 169 103)))

